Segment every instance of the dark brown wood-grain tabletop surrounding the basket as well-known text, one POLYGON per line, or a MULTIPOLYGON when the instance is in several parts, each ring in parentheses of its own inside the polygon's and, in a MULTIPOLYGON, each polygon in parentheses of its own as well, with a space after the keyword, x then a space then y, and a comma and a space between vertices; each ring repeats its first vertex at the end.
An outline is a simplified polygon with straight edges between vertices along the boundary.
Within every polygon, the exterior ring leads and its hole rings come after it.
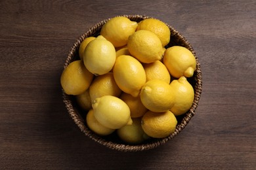
POLYGON ((255 169, 256 2, 0 1, 0 169, 255 169), (196 115, 168 143, 119 152, 95 143, 62 102, 70 47, 94 24, 146 14, 199 58, 196 115))

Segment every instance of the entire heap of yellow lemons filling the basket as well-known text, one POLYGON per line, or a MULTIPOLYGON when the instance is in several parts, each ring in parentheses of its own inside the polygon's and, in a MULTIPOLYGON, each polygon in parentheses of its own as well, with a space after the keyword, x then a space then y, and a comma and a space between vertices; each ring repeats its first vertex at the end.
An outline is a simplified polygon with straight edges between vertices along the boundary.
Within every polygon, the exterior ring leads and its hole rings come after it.
POLYGON ((80 59, 64 69, 60 82, 87 112, 85 122, 92 131, 116 131, 130 144, 175 131, 176 116, 194 101, 186 78, 193 76, 196 59, 182 46, 166 49, 170 37, 160 20, 138 23, 117 16, 102 26, 98 37, 81 42, 80 59))

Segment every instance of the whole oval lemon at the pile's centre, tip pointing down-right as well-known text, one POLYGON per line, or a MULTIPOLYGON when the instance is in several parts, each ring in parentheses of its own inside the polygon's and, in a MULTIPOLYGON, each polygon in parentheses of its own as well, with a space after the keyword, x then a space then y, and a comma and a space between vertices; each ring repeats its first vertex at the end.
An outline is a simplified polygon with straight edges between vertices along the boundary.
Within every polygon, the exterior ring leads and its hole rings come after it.
POLYGON ((146 82, 146 73, 142 64, 132 56, 122 55, 116 58, 113 68, 117 86, 125 93, 137 97, 146 82))

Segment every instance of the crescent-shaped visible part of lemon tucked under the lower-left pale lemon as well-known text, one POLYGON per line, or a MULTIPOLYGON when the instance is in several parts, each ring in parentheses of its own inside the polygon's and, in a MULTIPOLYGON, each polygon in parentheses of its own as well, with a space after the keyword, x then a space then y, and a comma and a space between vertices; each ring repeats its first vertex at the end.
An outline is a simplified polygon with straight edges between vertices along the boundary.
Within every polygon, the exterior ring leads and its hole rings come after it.
POLYGON ((110 129, 108 127, 102 126, 102 124, 100 124, 98 120, 96 120, 93 109, 89 110, 89 112, 87 113, 86 123, 89 129, 91 129, 98 135, 102 135, 102 136, 110 135, 115 131, 115 129, 110 129))

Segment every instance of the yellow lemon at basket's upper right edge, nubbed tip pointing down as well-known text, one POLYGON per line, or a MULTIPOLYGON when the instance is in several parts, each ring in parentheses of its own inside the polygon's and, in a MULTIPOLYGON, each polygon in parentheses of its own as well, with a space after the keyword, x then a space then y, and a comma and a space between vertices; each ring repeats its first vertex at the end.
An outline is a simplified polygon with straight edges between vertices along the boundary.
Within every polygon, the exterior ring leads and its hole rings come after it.
POLYGON ((176 78, 181 76, 191 77, 196 70, 196 58, 183 46, 172 46, 165 50, 163 63, 169 73, 176 78))

